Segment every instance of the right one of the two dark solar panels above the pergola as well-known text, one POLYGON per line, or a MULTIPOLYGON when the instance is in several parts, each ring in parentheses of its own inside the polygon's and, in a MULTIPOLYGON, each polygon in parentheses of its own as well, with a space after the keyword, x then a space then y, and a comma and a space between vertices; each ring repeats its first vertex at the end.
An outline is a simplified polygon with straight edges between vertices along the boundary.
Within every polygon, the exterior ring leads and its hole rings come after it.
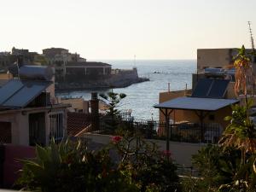
POLYGON ((215 79, 212 84, 212 88, 207 97, 211 98, 224 98, 224 94, 227 90, 230 80, 215 79))

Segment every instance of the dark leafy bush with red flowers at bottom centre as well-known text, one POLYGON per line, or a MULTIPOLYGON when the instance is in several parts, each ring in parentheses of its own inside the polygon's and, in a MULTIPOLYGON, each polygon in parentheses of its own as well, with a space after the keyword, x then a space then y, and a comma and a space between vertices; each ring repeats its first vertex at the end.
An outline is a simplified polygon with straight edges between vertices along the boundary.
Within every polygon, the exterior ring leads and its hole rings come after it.
POLYGON ((177 166, 172 162, 169 151, 159 151, 154 143, 146 143, 141 137, 113 137, 118 151, 120 169, 131 172, 132 181, 140 191, 179 191, 177 166))

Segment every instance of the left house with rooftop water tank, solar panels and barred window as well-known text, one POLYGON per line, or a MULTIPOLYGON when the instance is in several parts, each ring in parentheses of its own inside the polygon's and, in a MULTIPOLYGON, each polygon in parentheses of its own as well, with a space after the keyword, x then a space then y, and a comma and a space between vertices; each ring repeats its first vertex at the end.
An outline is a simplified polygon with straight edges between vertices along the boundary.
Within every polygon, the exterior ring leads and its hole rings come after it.
POLYGON ((68 104, 55 100, 53 71, 49 67, 20 67, 20 79, 0 89, 0 143, 47 145, 67 136, 68 104))

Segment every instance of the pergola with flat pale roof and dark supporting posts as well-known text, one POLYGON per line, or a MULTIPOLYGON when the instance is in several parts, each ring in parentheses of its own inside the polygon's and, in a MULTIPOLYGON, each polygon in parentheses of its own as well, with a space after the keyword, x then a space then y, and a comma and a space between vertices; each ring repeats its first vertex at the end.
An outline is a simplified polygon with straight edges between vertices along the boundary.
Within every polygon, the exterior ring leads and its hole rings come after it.
POLYGON ((220 108, 225 108, 237 102, 239 101, 235 99, 216 99, 183 96, 154 105, 154 108, 159 108, 160 112, 163 113, 166 118, 166 150, 169 150, 169 117, 173 110, 181 109, 194 111, 200 120, 201 140, 203 140, 203 121, 207 117, 208 113, 217 111, 220 108))

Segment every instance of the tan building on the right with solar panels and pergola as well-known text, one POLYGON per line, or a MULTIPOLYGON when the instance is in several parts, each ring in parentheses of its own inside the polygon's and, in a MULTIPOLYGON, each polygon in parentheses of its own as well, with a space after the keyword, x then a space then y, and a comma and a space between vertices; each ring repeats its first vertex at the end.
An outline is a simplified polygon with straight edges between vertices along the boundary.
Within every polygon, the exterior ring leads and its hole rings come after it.
MULTIPOLYGON (((236 55, 237 49, 198 49, 192 90, 160 92, 160 104, 154 107, 160 108, 160 121, 172 124, 172 138, 185 134, 201 143, 218 141, 229 124, 224 117, 232 113, 230 106, 244 102, 244 96, 236 96, 234 90, 236 55)), ((252 61, 254 65, 254 58, 252 61)), ((166 135, 166 130, 159 134, 166 135)))

